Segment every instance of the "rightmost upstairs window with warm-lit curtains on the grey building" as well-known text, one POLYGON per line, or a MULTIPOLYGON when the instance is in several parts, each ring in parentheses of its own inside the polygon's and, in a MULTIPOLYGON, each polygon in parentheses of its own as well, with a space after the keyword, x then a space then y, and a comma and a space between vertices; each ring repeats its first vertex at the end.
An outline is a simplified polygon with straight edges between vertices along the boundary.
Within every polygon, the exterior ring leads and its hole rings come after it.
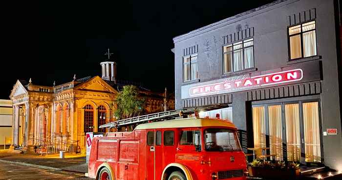
POLYGON ((289 42, 290 59, 317 55, 315 21, 289 27, 289 42))

